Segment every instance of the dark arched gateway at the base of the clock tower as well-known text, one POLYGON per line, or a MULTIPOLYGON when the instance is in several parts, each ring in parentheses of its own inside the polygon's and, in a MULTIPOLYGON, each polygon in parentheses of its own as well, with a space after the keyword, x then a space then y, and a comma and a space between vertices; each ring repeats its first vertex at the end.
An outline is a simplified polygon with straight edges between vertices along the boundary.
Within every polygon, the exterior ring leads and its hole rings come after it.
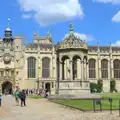
POLYGON ((6 81, 2 84, 2 93, 3 94, 12 94, 12 83, 6 81))

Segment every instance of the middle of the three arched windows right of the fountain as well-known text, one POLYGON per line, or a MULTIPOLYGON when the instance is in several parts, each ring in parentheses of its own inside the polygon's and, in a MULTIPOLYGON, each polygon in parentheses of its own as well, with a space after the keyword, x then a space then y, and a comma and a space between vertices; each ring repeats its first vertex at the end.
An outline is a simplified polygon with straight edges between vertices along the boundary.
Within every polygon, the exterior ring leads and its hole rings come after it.
POLYGON ((101 77, 108 78, 108 60, 101 60, 101 77))

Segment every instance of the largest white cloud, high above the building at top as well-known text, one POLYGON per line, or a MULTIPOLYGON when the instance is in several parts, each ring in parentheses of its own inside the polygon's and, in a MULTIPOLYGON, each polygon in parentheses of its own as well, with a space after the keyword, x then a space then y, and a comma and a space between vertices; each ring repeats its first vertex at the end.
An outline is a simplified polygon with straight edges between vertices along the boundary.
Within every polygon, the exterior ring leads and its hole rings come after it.
POLYGON ((18 0, 24 18, 33 15, 41 26, 83 19, 84 13, 79 0, 18 0))

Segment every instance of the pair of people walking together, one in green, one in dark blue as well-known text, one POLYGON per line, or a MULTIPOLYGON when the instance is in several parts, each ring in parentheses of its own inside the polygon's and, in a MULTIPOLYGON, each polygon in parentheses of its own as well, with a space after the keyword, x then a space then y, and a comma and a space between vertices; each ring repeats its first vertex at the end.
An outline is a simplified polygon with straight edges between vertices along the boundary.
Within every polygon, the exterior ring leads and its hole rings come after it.
POLYGON ((24 105, 26 106, 26 93, 25 90, 19 91, 19 89, 17 89, 13 96, 15 97, 15 101, 16 101, 16 105, 19 106, 19 100, 21 101, 21 107, 24 105))

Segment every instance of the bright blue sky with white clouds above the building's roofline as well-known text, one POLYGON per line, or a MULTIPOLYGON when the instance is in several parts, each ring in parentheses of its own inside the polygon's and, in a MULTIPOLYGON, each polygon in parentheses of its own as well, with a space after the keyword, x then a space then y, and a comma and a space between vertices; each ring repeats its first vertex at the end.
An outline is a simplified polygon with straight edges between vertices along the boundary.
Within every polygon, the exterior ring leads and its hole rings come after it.
POLYGON ((0 0, 0 37, 10 27, 26 44, 38 36, 52 34, 61 42, 73 24, 74 32, 88 45, 120 46, 120 0, 0 0))

